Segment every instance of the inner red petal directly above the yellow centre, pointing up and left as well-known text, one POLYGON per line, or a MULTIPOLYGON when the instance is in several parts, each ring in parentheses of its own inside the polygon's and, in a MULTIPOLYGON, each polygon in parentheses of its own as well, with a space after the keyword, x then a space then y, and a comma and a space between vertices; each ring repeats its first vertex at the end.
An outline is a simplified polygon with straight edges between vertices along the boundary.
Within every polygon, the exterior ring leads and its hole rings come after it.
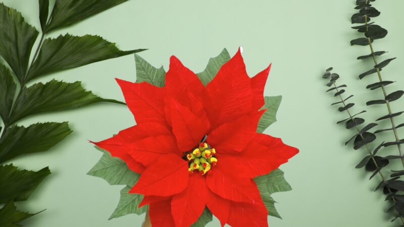
POLYGON ((195 147, 209 130, 209 122, 195 115, 176 100, 171 100, 171 122, 178 148, 188 151, 195 147))

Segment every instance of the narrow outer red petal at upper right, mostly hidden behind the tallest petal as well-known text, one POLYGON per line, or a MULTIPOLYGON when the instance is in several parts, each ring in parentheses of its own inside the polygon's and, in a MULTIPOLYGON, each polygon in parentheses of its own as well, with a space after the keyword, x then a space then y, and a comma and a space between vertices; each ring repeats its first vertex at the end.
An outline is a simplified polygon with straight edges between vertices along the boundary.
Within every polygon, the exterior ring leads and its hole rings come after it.
POLYGON ((271 65, 268 68, 258 73, 255 77, 251 78, 252 89, 252 109, 260 109, 264 104, 264 88, 267 82, 271 65))

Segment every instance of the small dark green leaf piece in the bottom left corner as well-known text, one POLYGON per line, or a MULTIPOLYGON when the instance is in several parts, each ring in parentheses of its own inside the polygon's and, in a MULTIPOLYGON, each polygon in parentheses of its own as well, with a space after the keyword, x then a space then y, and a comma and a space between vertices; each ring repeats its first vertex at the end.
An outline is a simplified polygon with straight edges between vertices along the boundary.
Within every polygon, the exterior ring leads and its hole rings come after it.
POLYGON ((26 213, 17 210, 13 201, 9 201, 0 209, 0 226, 2 227, 19 227, 22 226, 18 222, 27 219, 35 214, 26 213))

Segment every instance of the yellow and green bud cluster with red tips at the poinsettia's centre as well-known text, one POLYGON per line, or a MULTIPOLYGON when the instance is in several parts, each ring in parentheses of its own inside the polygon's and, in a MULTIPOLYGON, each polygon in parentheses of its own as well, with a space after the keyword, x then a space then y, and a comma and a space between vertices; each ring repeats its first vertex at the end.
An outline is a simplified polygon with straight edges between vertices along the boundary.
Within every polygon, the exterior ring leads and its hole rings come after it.
POLYGON ((185 155, 189 161, 188 171, 190 173, 198 171, 201 175, 205 175, 218 161, 215 154, 215 148, 209 147, 207 143, 200 143, 198 148, 185 155))

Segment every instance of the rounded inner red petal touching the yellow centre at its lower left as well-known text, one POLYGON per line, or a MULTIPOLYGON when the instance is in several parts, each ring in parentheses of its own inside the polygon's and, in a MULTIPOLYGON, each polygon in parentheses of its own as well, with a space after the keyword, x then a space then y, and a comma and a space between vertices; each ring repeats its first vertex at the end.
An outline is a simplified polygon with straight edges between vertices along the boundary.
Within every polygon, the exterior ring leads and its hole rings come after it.
POLYGON ((166 154, 140 175, 129 193, 156 196, 178 194, 188 185, 188 177, 188 162, 175 154, 166 154))

